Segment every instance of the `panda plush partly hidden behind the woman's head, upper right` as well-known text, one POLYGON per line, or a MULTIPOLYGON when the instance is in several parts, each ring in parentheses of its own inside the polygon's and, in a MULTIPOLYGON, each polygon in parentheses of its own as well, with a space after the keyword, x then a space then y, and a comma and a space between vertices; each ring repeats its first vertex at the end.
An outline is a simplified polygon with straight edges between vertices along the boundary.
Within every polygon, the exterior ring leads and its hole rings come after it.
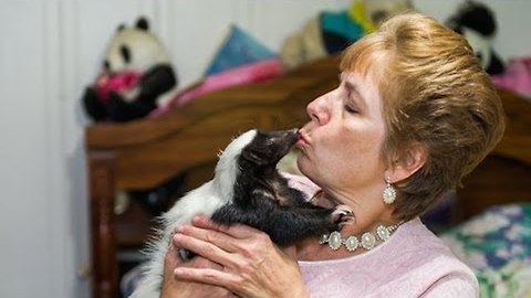
POLYGON ((488 74, 503 73, 503 62, 492 47, 498 24, 494 13, 486 4, 471 0, 464 2, 447 24, 467 39, 488 74))

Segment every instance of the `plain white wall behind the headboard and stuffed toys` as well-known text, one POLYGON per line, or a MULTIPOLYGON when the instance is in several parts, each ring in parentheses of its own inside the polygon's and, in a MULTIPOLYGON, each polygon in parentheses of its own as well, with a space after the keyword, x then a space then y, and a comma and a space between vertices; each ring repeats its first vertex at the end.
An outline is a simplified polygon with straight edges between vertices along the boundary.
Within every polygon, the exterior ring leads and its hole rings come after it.
MULTIPOLYGON (((445 20, 459 1, 417 0, 445 20)), ((496 49, 531 54, 527 0, 497 10, 496 49)), ((88 297, 83 88, 118 23, 147 15, 181 85, 198 79, 233 21, 277 51, 323 9, 350 0, 0 0, 0 297, 88 297)))

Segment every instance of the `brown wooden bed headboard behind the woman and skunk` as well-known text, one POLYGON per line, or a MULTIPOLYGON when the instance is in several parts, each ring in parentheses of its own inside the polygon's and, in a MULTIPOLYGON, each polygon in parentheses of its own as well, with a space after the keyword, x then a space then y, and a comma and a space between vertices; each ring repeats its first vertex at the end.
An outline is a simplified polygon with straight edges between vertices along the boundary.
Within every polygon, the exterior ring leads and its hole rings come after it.
MULTIPOLYGON (((249 128, 299 127, 308 119, 305 105, 336 86, 337 63, 330 56, 268 82, 212 92, 156 118, 86 127, 93 297, 116 296, 117 247, 144 241, 149 228, 121 223, 114 214, 117 191, 156 188, 181 173, 191 180, 201 170, 211 173, 219 149, 249 128)), ((456 224, 490 206, 531 201, 531 102, 499 92, 507 134, 457 192, 456 224)))

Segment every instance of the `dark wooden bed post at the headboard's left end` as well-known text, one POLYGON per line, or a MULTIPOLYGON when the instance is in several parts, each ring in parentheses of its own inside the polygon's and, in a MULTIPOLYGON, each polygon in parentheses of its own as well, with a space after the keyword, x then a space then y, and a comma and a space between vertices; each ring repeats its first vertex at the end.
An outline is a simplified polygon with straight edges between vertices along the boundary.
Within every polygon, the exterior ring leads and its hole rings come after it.
POLYGON ((88 152, 94 298, 111 298, 117 294, 114 158, 111 151, 88 152))

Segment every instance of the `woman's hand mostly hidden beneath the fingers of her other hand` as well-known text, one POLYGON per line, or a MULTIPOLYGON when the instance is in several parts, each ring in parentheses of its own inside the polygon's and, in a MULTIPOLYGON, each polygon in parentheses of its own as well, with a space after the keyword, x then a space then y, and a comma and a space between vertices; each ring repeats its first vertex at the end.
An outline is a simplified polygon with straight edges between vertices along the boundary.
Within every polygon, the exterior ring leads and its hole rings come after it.
POLYGON ((236 297, 226 288, 175 278, 174 269, 177 267, 222 268, 204 257, 197 256, 190 262, 180 260, 175 245, 170 243, 164 258, 164 278, 160 298, 229 298, 236 297))

